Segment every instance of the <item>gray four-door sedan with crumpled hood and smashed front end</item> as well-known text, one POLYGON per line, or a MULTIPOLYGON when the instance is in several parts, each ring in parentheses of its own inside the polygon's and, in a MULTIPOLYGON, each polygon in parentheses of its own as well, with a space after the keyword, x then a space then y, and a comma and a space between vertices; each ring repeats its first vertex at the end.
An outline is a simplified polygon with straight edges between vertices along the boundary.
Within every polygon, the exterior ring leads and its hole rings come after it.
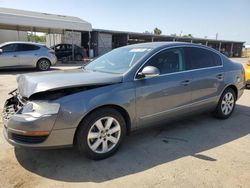
POLYGON ((125 135, 172 117, 210 110, 228 118, 245 86, 243 66, 190 43, 115 49, 71 71, 24 74, 4 106, 14 146, 75 145, 92 159, 111 156, 125 135))

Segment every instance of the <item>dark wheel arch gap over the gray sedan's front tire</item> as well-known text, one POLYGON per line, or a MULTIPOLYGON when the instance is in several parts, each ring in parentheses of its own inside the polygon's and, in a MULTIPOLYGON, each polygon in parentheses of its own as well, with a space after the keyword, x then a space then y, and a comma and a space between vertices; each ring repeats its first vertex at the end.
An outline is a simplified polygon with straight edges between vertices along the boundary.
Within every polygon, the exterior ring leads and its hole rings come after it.
POLYGON ((131 131, 131 119, 130 119, 130 116, 128 114, 128 112, 121 106, 119 105, 115 105, 115 104, 107 104, 107 105, 102 105, 102 106, 99 106, 99 107, 96 107, 94 109, 92 109, 91 111, 89 111, 82 119, 81 121, 79 122, 77 128, 76 128, 76 131, 75 131, 75 134, 74 134, 74 140, 73 140, 73 144, 75 145, 76 143, 76 134, 77 134, 77 131, 80 127, 80 124, 83 122, 83 120, 89 116, 90 114, 94 113, 95 111, 101 109, 101 108, 113 108, 115 110, 117 110, 124 118, 125 122, 126 122, 126 134, 129 134, 130 131, 131 131))

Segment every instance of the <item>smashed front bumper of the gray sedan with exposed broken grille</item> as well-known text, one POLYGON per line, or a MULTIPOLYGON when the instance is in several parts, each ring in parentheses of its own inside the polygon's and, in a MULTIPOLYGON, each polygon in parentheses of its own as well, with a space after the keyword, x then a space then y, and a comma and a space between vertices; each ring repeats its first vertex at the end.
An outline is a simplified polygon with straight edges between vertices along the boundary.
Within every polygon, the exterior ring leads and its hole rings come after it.
POLYGON ((53 130, 57 114, 34 117, 22 114, 28 100, 16 91, 10 93, 3 109, 4 137, 14 146, 47 148, 72 145, 75 129, 53 130), (71 135, 71 137, 70 137, 71 135))

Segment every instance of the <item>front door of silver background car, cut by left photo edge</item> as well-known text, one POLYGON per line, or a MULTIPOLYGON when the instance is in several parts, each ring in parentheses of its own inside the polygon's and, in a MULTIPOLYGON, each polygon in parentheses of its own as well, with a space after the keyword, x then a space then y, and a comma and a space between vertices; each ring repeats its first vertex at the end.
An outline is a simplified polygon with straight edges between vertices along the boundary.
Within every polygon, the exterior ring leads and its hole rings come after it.
POLYGON ((0 67, 13 67, 19 65, 19 58, 16 53, 16 44, 8 44, 1 47, 0 67))

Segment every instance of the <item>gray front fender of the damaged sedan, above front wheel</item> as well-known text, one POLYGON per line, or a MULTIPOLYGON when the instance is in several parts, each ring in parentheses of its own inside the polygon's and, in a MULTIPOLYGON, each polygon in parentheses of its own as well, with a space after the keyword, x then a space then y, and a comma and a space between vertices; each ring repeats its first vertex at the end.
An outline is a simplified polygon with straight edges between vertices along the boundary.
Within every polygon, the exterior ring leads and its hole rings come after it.
POLYGON ((76 93, 58 99, 60 112, 54 129, 75 128, 92 110, 116 105, 123 108, 131 120, 131 129, 135 129, 135 87, 133 82, 125 82, 76 93))

